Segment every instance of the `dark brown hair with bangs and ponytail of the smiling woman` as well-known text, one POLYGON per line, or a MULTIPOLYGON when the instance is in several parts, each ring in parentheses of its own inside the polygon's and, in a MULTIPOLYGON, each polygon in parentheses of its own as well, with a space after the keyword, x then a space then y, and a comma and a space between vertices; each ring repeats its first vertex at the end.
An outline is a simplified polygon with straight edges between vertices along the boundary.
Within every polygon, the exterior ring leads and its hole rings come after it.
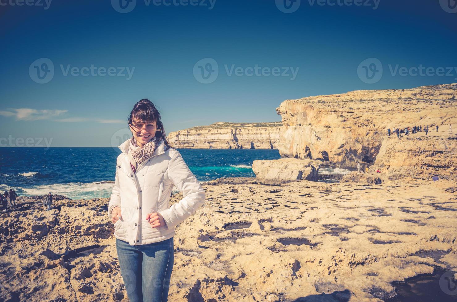
POLYGON ((157 129, 160 129, 160 131, 155 132, 155 137, 158 139, 162 138, 165 146, 172 148, 167 139, 164 124, 162 124, 162 121, 160 120, 159 110, 155 108, 154 104, 149 99, 140 99, 137 104, 133 106, 130 115, 128 115, 128 125, 131 125, 133 121, 142 123, 156 121, 157 129))

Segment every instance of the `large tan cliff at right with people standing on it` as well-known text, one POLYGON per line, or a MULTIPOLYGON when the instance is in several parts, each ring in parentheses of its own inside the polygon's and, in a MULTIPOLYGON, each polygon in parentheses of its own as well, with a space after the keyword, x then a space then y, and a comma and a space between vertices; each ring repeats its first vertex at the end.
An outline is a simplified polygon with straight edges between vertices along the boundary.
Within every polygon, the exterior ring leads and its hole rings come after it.
POLYGON ((281 157, 320 159, 338 167, 374 163, 390 178, 451 177, 457 169, 456 89, 457 84, 445 84, 285 100, 276 108, 283 124, 278 150, 281 157), (428 125, 430 132, 400 139, 387 134, 388 128, 414 125, 428 125))

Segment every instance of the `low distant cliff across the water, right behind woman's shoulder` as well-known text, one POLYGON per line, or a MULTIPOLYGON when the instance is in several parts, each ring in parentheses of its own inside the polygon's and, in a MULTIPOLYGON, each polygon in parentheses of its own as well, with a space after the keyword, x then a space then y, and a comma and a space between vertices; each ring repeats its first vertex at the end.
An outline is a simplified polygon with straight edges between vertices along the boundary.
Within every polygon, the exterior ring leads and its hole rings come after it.
POLYGON ((176 148, 276 149, 281 127, 281 122, 219 122, 170 132, 167 138, 176 148))

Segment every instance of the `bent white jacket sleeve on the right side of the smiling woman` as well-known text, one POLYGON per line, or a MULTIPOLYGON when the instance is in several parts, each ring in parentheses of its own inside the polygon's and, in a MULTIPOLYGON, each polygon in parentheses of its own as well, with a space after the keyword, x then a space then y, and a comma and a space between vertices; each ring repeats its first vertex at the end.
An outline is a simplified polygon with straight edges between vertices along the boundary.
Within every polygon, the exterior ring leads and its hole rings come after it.
POLYGON ((172 229, 191 216, 205 202, 205 190, 184 162, 177 150, 170 152, 168 177, 184 198, 170 208, 159 213, 165 220, 168 229, 172 229))

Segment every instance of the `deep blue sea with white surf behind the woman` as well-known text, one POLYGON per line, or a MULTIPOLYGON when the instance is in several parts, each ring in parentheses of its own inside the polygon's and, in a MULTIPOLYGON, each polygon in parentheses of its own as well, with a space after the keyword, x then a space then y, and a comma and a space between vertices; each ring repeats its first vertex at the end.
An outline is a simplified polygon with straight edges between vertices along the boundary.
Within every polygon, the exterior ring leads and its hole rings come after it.
MULTIPOLYGON (((110 197, 117 148, 0 148, 0 192, 52 192, 72 199, 110 197)), ((200 182, 255 177, 252 162, 280 158, 277 149, 177 149, 200 182)))

